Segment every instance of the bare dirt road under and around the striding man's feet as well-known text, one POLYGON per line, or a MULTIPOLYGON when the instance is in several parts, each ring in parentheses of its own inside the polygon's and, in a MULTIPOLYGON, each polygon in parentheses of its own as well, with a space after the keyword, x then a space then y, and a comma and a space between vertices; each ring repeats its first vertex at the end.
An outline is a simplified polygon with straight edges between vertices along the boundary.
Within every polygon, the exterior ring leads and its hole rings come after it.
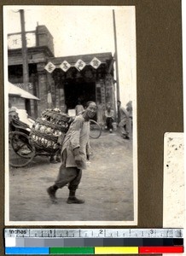
POLYGON ((58 204, 49 201, 60 164, 36 157, 29 166, 9 169, 10 221, 131 221, 133 220, 132 141, 102 132, 91 139, 93 155, 83 171, 77 197, 83 205, 68 205, 67 187, 58 189, 58 204))

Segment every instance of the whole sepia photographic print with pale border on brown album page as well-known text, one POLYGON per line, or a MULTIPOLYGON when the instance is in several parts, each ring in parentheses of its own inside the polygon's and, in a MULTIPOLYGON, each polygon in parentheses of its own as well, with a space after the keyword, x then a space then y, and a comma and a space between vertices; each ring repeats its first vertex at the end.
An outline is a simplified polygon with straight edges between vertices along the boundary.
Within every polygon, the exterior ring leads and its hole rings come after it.
POLYGON ((137 225, 135 6, 3 6, 5 224, 137 225))

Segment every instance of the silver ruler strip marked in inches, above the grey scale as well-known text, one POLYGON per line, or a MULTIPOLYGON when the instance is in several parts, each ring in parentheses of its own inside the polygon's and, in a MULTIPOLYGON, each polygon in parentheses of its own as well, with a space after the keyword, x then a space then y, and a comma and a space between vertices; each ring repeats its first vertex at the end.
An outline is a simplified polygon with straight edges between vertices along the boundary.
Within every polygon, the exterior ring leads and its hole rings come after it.
POLYGON ((183 229, 5 229, 6 237, 183 238, 183 229))

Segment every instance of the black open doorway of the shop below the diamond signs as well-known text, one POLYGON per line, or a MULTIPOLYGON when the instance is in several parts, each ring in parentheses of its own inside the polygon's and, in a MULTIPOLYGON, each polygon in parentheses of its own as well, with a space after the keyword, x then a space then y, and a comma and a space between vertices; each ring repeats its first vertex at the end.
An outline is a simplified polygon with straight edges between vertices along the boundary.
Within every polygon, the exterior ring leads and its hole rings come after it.
POLYGON ((78 101, 85 107, 86 102, 96 102, 95 83, 68 83, 65 84, 65 99, 67 109, 76 107, 78 101))

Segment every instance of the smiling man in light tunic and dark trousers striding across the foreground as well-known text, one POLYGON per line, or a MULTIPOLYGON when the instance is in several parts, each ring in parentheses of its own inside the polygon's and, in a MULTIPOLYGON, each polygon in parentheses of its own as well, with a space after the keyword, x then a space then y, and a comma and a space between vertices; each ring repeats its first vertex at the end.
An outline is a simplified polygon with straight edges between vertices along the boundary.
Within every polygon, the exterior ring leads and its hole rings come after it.
POLYGON ((86 160, 90 155, 90 122, 96 114, 96 103, 87 102, 84 113, 79 114, 70 125, 61 148, 61 166, 55 184, 47 189, 49 198, 56 203, 55 193, 68 183, 68 204, 82 204, 83 200, 75 196, 80 183, 82 169, 86 169, 86 160))

